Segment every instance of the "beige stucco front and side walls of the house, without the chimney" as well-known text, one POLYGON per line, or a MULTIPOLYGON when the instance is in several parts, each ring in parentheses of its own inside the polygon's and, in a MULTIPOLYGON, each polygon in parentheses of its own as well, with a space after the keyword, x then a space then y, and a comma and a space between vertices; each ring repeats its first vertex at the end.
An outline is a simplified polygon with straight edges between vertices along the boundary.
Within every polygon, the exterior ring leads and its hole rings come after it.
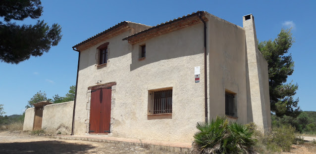
MULTIPOLYGON (((238 118, 232 120, 247 123, 245 30, 212 15, 208 19, 209 119, 225 115, 225 90, 229 90, 236 93, 238 118)), ((91 90, 88 87, 101 80, 101 83, 116 82, 112 87, 109 136, 192 142, 196 122, 205 119, 203 23, 133 45, 122 41, 135 32, 126 31, 80 51, 75 135, 89 130, 91 90), (97 67, 96 48, 105 42, 109 42, 108 63, 97 67), (138 60, 139 47, 143 44, 146 44, 146 58, 138 60), (201 67, 199 83, 194 78, 196 66, 201 67), (148 116, 148 91, 165 87, 173 90, 172 116, 148 116)))

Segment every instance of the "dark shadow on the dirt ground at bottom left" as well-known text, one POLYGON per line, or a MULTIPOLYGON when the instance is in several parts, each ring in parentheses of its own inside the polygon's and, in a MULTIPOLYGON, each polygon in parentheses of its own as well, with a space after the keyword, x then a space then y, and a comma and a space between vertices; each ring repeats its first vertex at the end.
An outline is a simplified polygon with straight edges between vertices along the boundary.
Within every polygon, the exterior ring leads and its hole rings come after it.
POLYGON ((0 143, 0 154, 85 154, 94 148, 92 145, 63 141, 15 142, 0 143))

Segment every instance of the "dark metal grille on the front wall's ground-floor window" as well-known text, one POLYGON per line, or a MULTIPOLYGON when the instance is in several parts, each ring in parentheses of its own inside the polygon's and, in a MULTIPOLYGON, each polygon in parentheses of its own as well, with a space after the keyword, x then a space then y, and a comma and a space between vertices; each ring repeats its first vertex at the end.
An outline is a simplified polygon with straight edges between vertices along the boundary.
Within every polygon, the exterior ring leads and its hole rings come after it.
POLYGON ((172 89, 153 91, 151 114, 172 113, 172 89))

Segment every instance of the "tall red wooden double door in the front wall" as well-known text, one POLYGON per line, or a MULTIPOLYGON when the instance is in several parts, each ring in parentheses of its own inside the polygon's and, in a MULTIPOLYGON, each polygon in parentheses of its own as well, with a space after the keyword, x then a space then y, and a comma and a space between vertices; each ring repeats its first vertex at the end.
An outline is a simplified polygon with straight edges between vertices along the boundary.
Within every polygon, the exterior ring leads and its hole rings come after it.
POLYGON ((93 90, 90 103, 90 134, 110 133, 111 87, 93 90))

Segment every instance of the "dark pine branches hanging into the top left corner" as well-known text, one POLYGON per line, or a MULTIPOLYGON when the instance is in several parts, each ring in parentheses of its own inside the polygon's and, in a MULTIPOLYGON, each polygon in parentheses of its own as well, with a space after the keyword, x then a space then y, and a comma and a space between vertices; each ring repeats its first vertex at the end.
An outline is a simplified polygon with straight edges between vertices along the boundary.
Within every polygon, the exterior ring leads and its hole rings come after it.
POLYGON ((31 56, 41 56, 61 39, 58 24, 44 20, 35 25, 17 25, 11 20, 38 19, 43 12, 41 0, 0 0, 0 61, 18 64, 31 56))

